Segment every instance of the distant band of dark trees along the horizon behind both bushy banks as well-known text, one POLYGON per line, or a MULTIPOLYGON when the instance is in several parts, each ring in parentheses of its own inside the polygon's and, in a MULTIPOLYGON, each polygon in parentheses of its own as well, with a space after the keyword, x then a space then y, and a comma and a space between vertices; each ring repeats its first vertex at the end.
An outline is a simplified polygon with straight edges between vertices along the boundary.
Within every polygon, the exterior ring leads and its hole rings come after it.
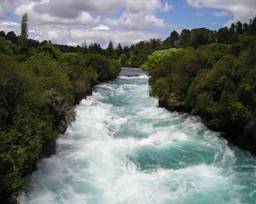
POLYGON ((26 50, 22 50, 23 52, 21 53, 19 49, 20 36, 17 37, 14 31, 9 31, 8 33, 0 31, 0 49, 5 54, 16 54, 18 60, 26 59, 27 56, 34 54, 37 49, 49 49, 49 52, 58 50, 61 53, 101 54, 108 59, 119 60, 121 65, 125 67, 141 67, 147 60, 148 54, 152 54, 156 50, 189 46, 197 48, 213 42, 233 44, 238 42, 239 36, 242 34, 253 35, 255 29, 256 21, 253 18, 248 23, 238 21, 236 24, 233 23, 230 27, 222 27, 218 31, 211 31, 207 28, 183 29, 180 34, 177 31, 172 31, 164 41, 150 39, 137 42, 131 46, 122 46, 121 43, 114 46, 113 42, 109 42, 107 48, 102 48, 97 42, 87 45, 86 41, 84 41, 82 45, 74 47, 55 44, 46 40, 38 42, 27 39, 26 50))

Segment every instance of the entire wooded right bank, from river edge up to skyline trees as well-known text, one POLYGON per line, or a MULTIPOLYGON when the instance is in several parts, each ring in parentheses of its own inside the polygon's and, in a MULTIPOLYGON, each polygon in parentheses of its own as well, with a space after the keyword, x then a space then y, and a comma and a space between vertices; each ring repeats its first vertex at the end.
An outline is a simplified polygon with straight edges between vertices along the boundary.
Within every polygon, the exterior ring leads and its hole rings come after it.
POLYGON ((201 116, 207 127, 256 154, 255 34, 256 18, 218 32, 183 30, 170 40, 176 48, 154 52, 143 65, 150 94, 168 110, 201 116))

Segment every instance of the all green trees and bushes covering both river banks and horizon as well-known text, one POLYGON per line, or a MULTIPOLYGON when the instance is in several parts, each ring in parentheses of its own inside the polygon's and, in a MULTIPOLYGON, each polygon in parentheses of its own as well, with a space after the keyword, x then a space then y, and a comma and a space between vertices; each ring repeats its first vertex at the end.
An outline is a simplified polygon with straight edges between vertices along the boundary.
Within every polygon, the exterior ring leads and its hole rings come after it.
POLYGON ((120 67, 149 71, 150 94, 170 111, 201 116, 207 127, 256 154, 256 18, 229 28, 172 31, 130 47, 81 46, 0 31, 0 202, 15 202, 37 161, 74 120, 74 105, 120 67))

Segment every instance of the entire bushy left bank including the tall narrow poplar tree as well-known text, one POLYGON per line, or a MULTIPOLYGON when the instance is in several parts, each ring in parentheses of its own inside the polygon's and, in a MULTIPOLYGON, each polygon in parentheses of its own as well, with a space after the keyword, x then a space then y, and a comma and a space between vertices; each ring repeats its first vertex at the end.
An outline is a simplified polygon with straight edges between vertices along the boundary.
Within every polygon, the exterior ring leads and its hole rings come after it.
MULTIPOLYGON (((54 153, 55 140, 75 116, 73 107, 93 85, 119 75, 119 61, 101 54, 0 32, 0 202, 28 186, 37 161, 54 153), (60 48, 58 48, 60 47, 60 48), (66 50, 67 51, 67 50, 66 50)), ((23 27, 22 27, 23 26, 23 27)))

